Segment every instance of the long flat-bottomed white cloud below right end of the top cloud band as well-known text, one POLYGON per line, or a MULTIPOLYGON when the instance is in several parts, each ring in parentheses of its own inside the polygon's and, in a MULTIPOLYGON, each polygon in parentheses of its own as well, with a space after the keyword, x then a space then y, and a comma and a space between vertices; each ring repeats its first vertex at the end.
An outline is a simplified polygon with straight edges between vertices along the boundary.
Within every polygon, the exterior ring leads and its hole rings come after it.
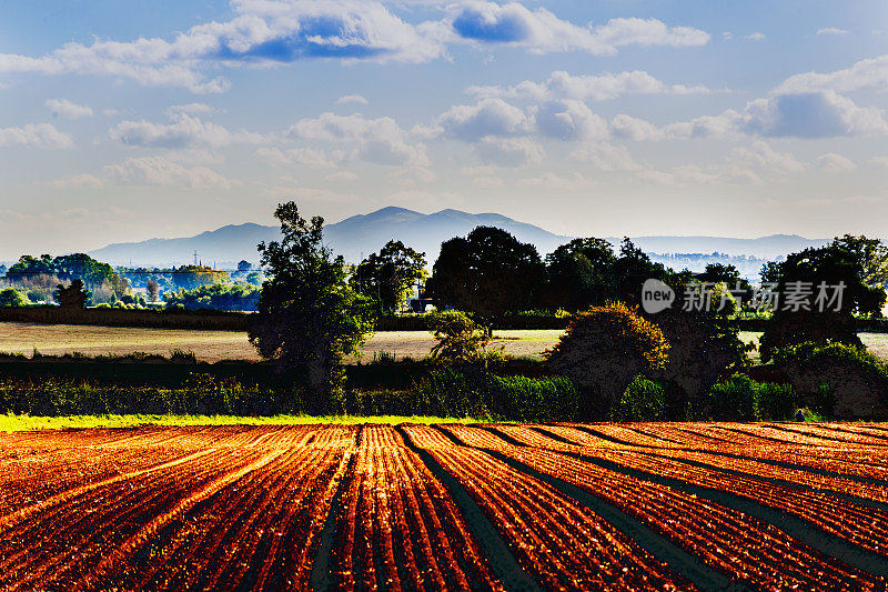
POLYGON ((512 87, 470 87, 466 92, 484 98, 523 99, 536 102, 574 99, 603 101, 624 94, 692 94, 708 93, 702 86, 665 84, 642 70, 597 76, 572 76, 552 72, 545 82, 525 80, 512 87))

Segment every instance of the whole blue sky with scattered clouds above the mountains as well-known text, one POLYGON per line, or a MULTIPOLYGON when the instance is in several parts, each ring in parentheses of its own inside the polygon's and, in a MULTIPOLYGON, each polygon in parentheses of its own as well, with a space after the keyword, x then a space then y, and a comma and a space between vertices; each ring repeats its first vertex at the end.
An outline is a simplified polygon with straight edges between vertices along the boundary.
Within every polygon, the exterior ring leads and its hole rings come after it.
POLYGON ((7 0, 0 260, 386 205, 888 237, 884 0, 7 0))

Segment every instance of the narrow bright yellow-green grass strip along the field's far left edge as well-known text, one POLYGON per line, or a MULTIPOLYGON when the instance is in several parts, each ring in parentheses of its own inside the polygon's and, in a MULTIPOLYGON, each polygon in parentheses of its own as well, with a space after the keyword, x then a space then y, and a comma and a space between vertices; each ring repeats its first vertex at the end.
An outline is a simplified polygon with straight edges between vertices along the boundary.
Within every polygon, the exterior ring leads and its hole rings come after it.
POLYGON ((62 430, 65 428, 132 428, 137 425, 297 425, 317 423, 474 423, 474 419, 428 415, 63 415, 58 418, 0 415, 0 432, 62 430))

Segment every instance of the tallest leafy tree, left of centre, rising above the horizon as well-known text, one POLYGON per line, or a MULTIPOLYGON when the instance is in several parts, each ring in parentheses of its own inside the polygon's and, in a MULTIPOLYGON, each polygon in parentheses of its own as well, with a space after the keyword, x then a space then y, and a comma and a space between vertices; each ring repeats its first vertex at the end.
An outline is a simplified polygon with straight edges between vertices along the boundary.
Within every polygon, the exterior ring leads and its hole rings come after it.
POLYGON ((306 221, 292 201, 274 215, 282 239, 259 245, 269 278, 250 341, 263 358, 304 375, 309 410, 320 412, 341 388, 343 357, 372 332, 372 301, 349 285, 342 257, 324 247, 323 218, 306 221))

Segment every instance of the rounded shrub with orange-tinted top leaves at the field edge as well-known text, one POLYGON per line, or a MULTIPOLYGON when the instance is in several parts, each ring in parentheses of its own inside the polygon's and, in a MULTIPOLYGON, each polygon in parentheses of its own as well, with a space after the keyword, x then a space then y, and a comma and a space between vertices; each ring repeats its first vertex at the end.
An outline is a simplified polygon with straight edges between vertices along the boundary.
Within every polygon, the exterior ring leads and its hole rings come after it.
POLYGON ((588 419, 616 404, 636 375, 662 369, 668 348, 656 325, 616 302, 577 314, 546 360, 584 390, 579 414, 588 419))

